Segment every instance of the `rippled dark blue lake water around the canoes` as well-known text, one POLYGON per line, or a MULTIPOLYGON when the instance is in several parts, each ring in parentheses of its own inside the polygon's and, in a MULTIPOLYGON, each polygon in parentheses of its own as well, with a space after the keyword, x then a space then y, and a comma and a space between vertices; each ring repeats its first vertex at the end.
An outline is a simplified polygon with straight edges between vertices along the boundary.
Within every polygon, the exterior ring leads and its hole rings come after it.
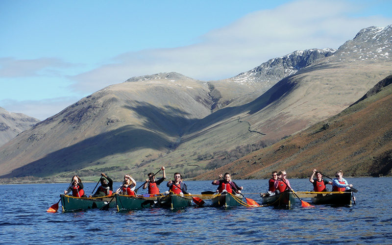
MULTIPOLYGON (((302 208, 298 200, 290 210, 192 206, 177 211, 151 208, 129 213, 113 209, 54 214, 46 210, 68 184, 0 185, 0 244, 390 244, 392 178, 347 181, 359 190, 352 207, 302 208)), ((258 193, 266 190, 267 180, 235 182, 244 186, 246 197, 261 203, 258 193)), ((185 183, 193 194, 215 190, 211 181, 185 183)), ((307 179, 291 179, 290 183, 295 191, 312 188, 307 179)), ((95 185, 84 183, 86 193, 95 185)), ((120 183, 114 184, 118 186, 120 183)), ((162 184, 161 191, 166 189, 162 184)), ((138 194, 143 193, 140 189, 138 194)))

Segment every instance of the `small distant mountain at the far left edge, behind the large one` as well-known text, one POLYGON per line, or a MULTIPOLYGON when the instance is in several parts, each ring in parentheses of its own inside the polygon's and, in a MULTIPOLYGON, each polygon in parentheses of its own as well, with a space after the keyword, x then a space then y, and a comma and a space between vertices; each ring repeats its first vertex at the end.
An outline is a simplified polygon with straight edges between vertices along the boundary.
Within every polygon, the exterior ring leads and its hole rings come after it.
POLYGON ((0 146, 38 122, 38 119, 22 113, 11 113, 0 107, 0 146))

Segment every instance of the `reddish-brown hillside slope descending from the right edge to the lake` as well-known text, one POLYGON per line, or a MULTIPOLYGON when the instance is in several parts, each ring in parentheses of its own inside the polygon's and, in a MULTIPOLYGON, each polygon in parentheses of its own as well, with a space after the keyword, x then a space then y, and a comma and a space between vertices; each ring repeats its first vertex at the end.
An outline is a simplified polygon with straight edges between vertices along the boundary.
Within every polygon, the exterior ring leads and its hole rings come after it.
POLYGON ((314 168, 327 175, 339 169, 346 176, 391 175, 391 104, 389 85, 327 121, 195 179, 223 172, 234 178, 267 178, 282 169, 290 177, 308 177, 314 168))

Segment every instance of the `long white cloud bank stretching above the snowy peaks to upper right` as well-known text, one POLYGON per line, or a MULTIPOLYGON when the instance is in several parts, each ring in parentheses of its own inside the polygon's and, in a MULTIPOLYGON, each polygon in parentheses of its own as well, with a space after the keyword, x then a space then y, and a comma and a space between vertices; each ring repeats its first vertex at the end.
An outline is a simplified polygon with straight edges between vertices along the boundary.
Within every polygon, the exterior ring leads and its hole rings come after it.
POLYGON ((362 28, 392 19, 349 17, 354 2, 300 0, 256 11, 200 37, 194 45, 123 53, 114 64, 70 77, 75 90, 94 92, 132 76, 178 72, 214 80, 251 70, 270 58, 298 49, 338 48, 362 28))

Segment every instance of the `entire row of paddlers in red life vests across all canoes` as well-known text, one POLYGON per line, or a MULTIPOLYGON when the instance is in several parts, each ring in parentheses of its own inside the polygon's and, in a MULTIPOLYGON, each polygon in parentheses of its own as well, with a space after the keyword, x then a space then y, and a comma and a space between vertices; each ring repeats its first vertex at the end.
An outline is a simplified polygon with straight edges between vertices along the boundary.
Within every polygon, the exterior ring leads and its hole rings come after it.
MULTIPOLYGON (((148 173, 148 178, 145 183, 142 185, 143 189, 147 189, 147 193, 150 196, 160 195, 159 185, 166 179, 165 167, 161 167, 162 170, 162 178, 155 180, 155 174, 157 173, 148 173)), ((160 171, 161 171, 160 170, 160 171)), ((328 192, 326 185, 332 185, 332 192, 350 192, 350 188, 352 188, 351 184, 347 183, 347 180, 343 178, 343 171, 339 170, 336 172, 334 179, 332 181, 324 180, 323 175, 318 172, 316 169, 313 170, 312 175, 309 178, 309 181, 313 183, 313 191, 314 192, 328 192), (314 176, 316 178, 314 179, 314 176)), ((219 180, 214 180, 212 182, 213 185, 218 185, 217 193, 228 192, 228 193, 237 193, 241 194, 241 190, 243 190, 242 186, 238 186, 234 181, 231 180, 230 173, 226 172, 224 174, 219 175, 219 180)), ((174 194, 190 194, 187 192, 187 186, 183 183, 183 177, 179 172, 174 173, 174 180, 169 180, 166 186, 169 188, 168 192, 172 192, 174 194)), ((113 194, 113 180, 108 177, 106 174, 101 173, 100 178, 100 186, 97 191, 90 195, 89 197, 101 197, 101 196, 110 196, 113 194)), ((142 187, 140 186, 140 187, 142 187)), ((139 187, 139 188, 140 188, 139 187)), ((120 188, 118 188, 115 193, 119 193, 121 195, 127 196, 135 196, 137 193, 136 189, 136 181, 132 178, 131 175, 125 174, 123 184, 120 188)), ((269 189, 268 192, 262 194, 262 196, 273 196, 280 194, 286 190, 292 190, 290 186, 290 181, 287 179, 287 173, 284 170, 279 172, 272 172, 272 176, 269 180, 269 189)), ((83 190, 83 184, 81 179, 74 175, 72 178, 72 183, 68 190, 64 191, 64 194, 71 193, 72 196, 75 197, 87 197, 83 190)), ((355 197, 353 196, 355 201, 355 197)))

